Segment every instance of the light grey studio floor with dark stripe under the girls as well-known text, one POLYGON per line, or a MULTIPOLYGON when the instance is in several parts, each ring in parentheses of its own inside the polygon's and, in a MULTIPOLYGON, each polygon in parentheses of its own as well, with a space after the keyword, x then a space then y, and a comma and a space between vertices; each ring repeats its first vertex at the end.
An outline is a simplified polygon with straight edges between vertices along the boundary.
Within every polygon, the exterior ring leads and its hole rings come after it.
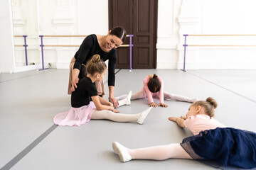
MULTIPOLYGON (((211 96, 218 101, 215 117, 221 123, 256 132, 256 70, 116 71, 115 96, 139 91, 147 74, 159 74, 164 91, 199 99, 211 96)), ((105 89, 106 82, 107 76, 105 89)), ((154 108, 144 125, 91 120, 80 127, 58 127, 53 117, 70 108, 67 86, 67 69, 0 74, 1 169, 214 169, 186 159, 122 163, 112 152, 113 141, 130 148, 181 142, 192 133, 167 118, 185 115, 190 103, 166 101, 169 108, 154 108)), ((141 99, 118 110, 134 114, 146 108, 148 101, 141 99)))

